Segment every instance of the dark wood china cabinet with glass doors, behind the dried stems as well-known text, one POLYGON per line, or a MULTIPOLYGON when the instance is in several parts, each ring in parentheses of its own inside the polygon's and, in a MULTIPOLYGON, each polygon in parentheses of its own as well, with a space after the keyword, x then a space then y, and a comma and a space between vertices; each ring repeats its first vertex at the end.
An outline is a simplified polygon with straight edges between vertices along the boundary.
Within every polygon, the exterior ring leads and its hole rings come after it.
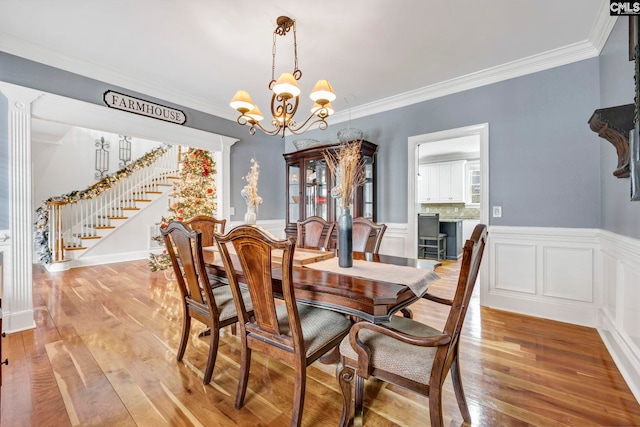
MULTIPOLYGON (((327 150, 337 150, 339 145, 324 145, 285 153, 286 162, 286 224, 287 237, 297 236, 297 222, 311 216, 319 216, 327 222, 338 219, 339 206, 331 197, 335 182, 322 155, 327 150)), ((363 141, 361 155, 365 159, 367 182, 358 189, 351 215, 376 220, 376 165, 378 146, 363 141)))

